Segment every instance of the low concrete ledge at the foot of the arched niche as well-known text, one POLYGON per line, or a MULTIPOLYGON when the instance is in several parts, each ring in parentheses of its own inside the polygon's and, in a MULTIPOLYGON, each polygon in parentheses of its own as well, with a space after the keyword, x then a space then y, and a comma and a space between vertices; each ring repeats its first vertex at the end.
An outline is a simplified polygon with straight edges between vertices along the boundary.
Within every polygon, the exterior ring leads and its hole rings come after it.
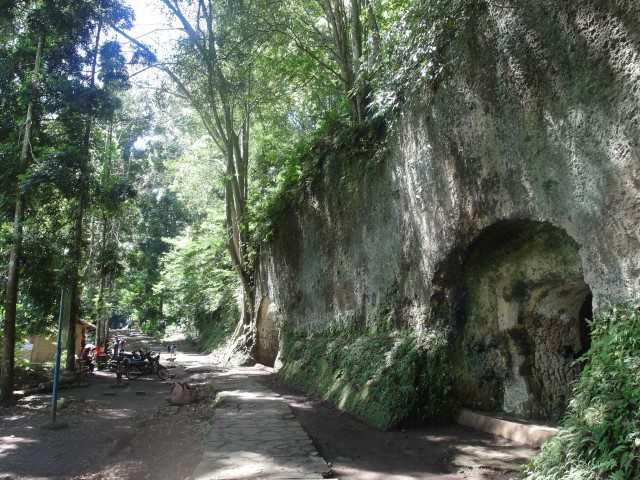
POLYGON ((499 435, 520 445, 537 448, 553 437, 558 429, 528 421, 499 418, 463 408, 457 422, 466 427, 499 435))

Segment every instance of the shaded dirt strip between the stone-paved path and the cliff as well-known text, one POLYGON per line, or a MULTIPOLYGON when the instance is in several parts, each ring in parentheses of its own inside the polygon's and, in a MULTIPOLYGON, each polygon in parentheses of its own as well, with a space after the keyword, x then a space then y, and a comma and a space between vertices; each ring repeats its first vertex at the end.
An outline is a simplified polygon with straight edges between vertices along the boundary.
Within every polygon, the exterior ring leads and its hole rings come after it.
POLYGON ((534 453, 455 424, 380 431, 280 384, 269 371, 254 379, 287 400, 340 479, 507 480, 517 478, 518 467, 534 453))

